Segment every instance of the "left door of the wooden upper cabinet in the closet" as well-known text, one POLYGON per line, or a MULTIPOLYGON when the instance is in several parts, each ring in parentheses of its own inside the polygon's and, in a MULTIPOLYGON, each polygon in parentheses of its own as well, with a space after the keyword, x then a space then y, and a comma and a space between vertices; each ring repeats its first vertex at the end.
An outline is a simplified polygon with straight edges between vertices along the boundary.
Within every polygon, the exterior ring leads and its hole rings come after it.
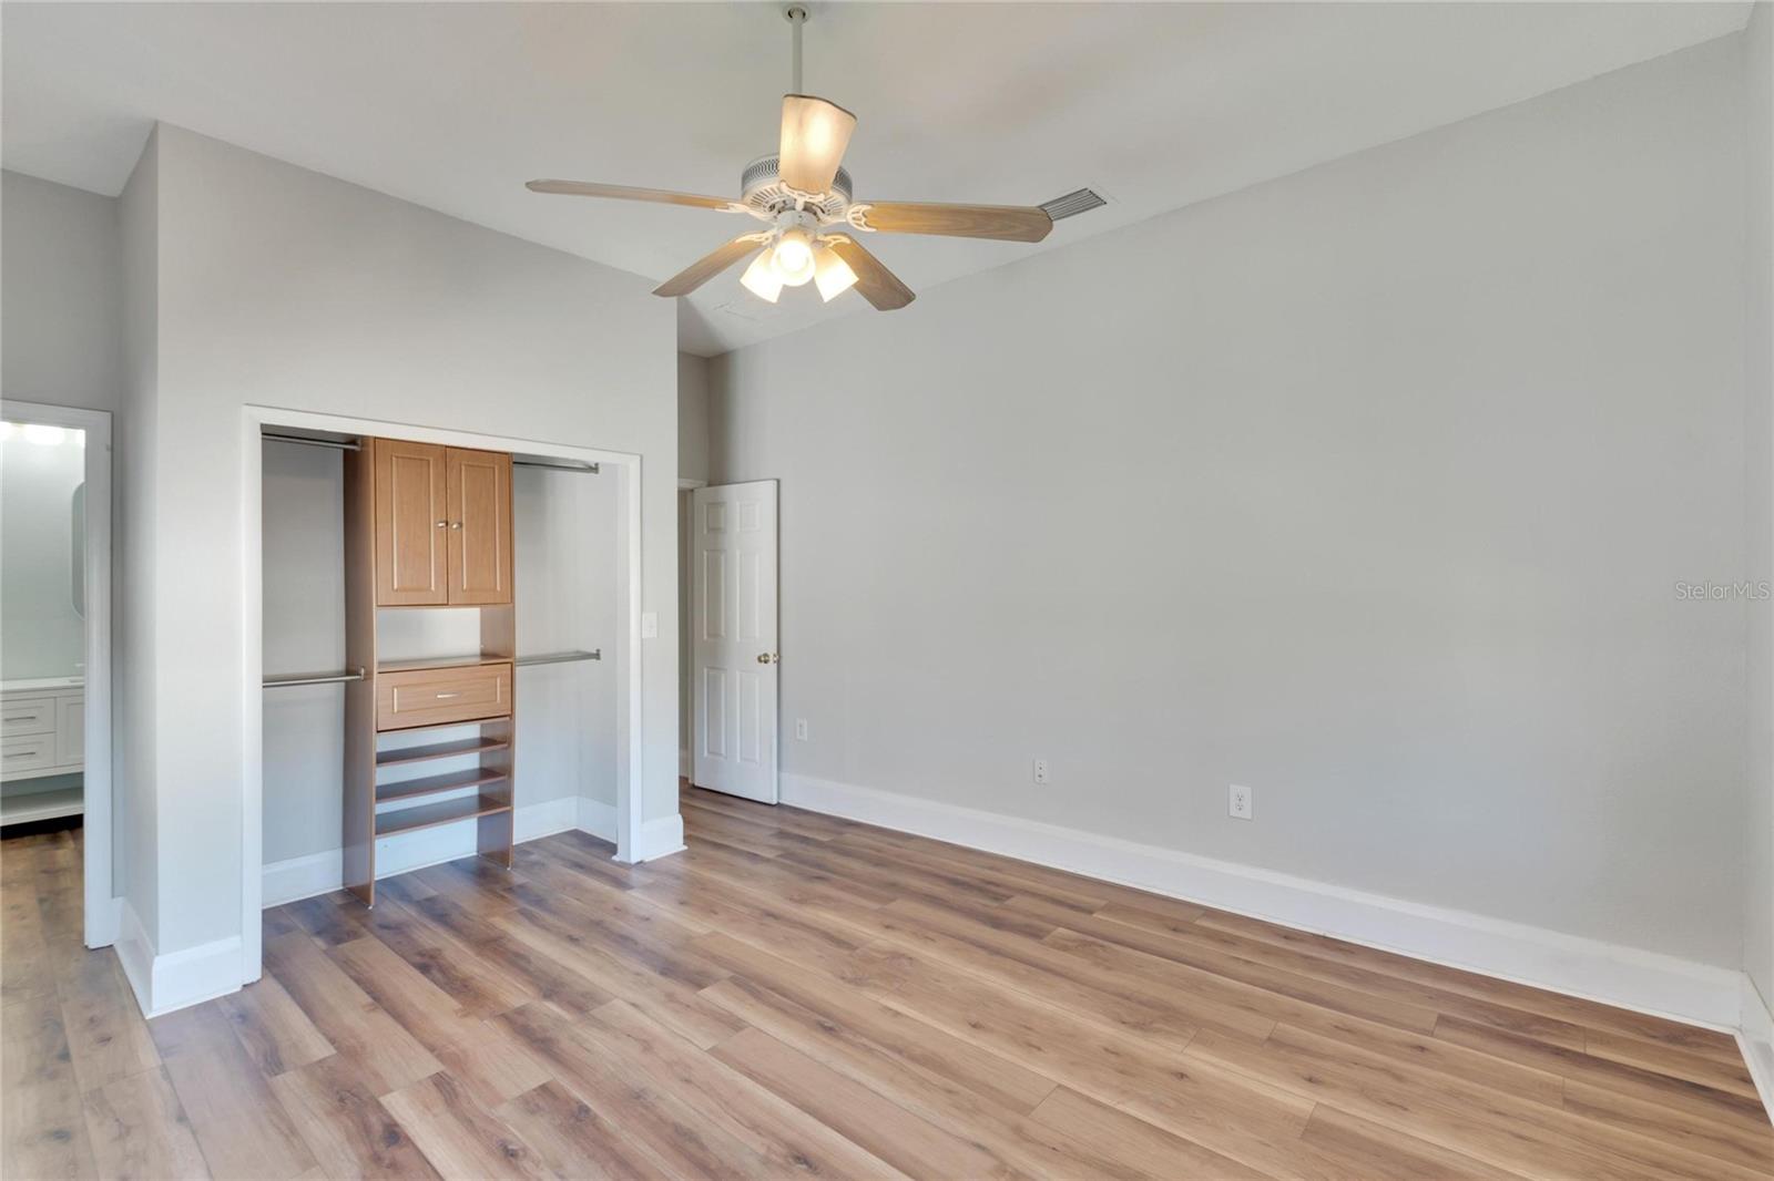
POLYGON ((449 603, 445 449, 378 438, 376 606, 449 603))

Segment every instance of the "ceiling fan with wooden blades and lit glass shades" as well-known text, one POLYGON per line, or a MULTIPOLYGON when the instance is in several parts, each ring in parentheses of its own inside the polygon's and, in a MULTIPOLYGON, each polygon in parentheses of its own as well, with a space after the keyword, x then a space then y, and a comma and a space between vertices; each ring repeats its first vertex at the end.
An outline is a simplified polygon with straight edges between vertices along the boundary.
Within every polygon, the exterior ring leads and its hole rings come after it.
POLYGON ((891 312, 915 296, 857 241, 859 234, 938 234, 1001 241, 1047 238, 1054 220, 1038 206, 853 200, 855 190, 843 168, 843 158, 850 133, 857 128, 857 117, 837 103, 800 92, 800 30, 807 23, 807 9, 795 4, 782 16, 795 30, 795 92, 782 96, 782 137, 777 154, 761 156, 745 167, 738 200, 589 181, 530 181, 529 188, 538 193, 614 197, 749 213, 765 223, 765 229, 740 234, 667 278, 653 291, 665 298, 690 294, 745 255, 756 254, 740 282, 761 300, 775 303, 782 287, 798 287, 811 280, 827 303, 855 287, 876 309, 891 312))

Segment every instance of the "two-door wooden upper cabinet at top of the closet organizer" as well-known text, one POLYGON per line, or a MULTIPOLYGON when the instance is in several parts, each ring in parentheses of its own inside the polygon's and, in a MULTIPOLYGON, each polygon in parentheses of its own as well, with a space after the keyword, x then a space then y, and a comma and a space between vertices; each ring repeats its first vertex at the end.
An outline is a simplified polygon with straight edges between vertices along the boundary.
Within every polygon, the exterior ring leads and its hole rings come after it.
POLYGON ((378 438, 376 606, 511 603, 511 456, 378 438))

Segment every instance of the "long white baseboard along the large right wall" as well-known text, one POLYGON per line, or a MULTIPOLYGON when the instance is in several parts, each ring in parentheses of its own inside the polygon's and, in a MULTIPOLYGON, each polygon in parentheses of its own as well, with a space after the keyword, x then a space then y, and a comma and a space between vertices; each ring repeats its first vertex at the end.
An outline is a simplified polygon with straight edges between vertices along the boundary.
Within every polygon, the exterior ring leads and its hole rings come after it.
POLYGON ((782 803, 1118 881, 1416 959, 1735 1030, 1742 972, 1041 821, 807 775, 782 803))

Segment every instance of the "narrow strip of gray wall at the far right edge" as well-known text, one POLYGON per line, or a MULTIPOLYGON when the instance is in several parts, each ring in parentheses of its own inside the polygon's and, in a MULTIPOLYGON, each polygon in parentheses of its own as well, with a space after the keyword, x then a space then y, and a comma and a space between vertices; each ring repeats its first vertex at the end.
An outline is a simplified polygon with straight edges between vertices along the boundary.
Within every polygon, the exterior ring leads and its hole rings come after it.
MULTIPOLYGON (((1749 575, 1774 580, 1774 5, 1754 5, 1744 30, 1747 112, 1749 291, 1744 372, 1749 383, 1749 575)), ((1749 605, 1749 823, 1744 825, 1744 966, 1774 1009, 1774 603, 1749 605)))

